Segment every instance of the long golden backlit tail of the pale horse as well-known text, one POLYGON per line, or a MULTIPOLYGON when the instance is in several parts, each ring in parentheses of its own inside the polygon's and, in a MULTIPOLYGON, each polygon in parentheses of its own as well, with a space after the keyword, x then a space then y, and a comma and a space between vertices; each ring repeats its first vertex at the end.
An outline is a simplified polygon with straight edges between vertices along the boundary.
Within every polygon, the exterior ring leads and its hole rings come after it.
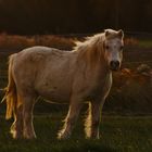
POLYGON ((12 54, 9 60, 9 71, 8 71, 9 84, 8 84, 8 87, 5 88, 5 97, 4 97, 4 99, 7 100, 7 113, 5 113, 7 119, 12 117, 12 114, 16 110, 16 103, 17 103, 16 85, 15 85, 13 74, 12 74, 12 66, 13 66, 15 56, 16 54, 12 54))

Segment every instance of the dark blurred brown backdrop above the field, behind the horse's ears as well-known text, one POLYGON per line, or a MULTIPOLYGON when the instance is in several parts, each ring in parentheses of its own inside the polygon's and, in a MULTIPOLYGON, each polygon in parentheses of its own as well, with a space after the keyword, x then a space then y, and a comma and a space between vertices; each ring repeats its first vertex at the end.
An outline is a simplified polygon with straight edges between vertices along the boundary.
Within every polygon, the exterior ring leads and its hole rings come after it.
POLYGON ((0 0, 0 33, 152 33, 152 0, 0 0))

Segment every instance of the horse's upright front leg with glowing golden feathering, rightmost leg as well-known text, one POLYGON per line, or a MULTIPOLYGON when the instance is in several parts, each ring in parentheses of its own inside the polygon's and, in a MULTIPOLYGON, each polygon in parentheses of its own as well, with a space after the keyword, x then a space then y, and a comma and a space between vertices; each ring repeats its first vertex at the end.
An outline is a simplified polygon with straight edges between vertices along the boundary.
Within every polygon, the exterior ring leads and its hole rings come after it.
POLYGON ((88 116, 86 118, 85 131, 86 138, 99 139, 99 125, 101 117, 102 101, 92 101, 89 103, 88 116))

